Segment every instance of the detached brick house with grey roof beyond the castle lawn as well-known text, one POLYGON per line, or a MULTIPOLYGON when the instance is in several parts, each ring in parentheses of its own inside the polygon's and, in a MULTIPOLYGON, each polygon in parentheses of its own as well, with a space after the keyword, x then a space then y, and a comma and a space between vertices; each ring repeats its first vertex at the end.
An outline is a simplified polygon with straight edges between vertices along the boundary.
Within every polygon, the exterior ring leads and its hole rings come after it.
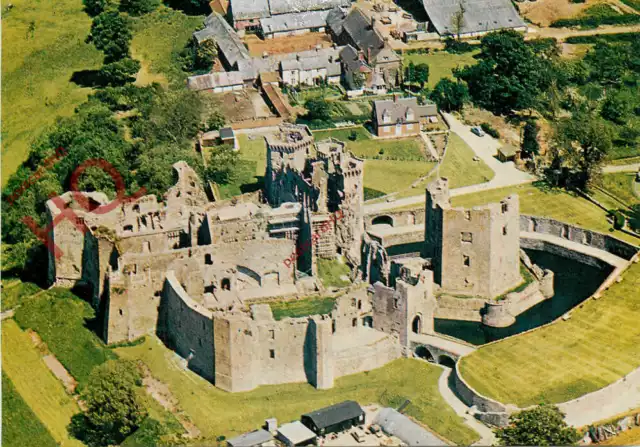
POLYGON ((400 138, 419 135, 424 124, 438 114, 435 104, 418 104, 416 98, 373 102, 373 126, 379 137, 400 138))

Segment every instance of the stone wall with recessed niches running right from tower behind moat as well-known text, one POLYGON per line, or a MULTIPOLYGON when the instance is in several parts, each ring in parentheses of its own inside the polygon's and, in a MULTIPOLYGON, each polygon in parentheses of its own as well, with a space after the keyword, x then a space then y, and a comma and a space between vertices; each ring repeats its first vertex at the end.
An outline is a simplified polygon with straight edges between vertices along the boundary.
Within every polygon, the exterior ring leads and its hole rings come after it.
MULTIPOLYGON (((620 258, 630 260, 638 247, 608 234, 586 230, 546 217, 520 215, 520 231, 543 233, 604 250, 620 258)), ((529 248, 529 247, 525 247, 529 248)))

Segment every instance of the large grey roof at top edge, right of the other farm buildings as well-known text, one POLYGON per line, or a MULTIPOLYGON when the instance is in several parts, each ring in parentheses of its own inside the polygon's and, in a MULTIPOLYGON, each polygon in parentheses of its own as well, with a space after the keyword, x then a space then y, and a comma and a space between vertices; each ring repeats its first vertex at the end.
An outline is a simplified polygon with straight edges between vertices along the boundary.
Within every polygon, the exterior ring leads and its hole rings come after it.
MULTIPOLYGON (((422 0, 431 23, 440 35, 454 34, 452 20, 460 10, 451 0, 422 0)), ((511 0, 465 0, 461 34, 526 26, 511 0)))

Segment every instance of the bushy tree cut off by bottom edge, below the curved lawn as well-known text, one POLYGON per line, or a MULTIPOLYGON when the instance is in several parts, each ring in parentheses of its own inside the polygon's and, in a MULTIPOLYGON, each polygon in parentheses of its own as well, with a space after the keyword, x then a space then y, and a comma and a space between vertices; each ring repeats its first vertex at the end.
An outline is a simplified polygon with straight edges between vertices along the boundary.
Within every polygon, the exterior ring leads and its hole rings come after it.
POLYGON ((509 422, 508 427, 496 430, 501 445, 572 445, 579 437, 556 406, 540 405, 521 411, 512 415, 509 422))

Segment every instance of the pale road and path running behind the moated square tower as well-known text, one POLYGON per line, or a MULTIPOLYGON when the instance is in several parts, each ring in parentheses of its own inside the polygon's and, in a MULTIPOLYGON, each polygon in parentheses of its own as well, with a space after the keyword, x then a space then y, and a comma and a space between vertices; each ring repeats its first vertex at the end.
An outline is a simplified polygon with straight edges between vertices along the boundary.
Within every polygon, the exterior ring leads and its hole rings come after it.
MULTIPOLYGON (((491 138, 489 135, 478 137, 471 133, 470 126, 463 124, 453 115, 443 113, 443 116, 447 120, 447 123, 449 123, 451 131, 457 133, 464 142, 473 149, 475 154, 480 157, 480 159, 482 159, 482 161, 484 161, 495 173, 495 176, 489 182, 452 189, 450 191, 452 197, 479 191, 487 191, 490 189, 503 188, 506 186, 531 183, 536 180, 533 175, 516 169, 512 162, 502 163, 494 157, 498 148, 501 146, 498 140, 491 138)), ((393 202, 365 204, 364 211, 366 214, 374 214, 403 206, 423 204, 424 201, 424 194, 420 194, 394 200, 393 202)))

